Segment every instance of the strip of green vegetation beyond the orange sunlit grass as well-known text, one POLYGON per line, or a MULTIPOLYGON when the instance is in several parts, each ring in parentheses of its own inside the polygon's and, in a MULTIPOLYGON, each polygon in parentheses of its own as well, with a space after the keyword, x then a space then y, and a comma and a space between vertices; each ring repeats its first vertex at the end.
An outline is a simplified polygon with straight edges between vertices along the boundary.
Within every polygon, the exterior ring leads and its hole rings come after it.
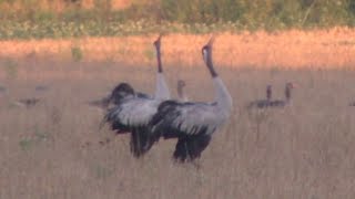
POLYGON ((61 11, 41 6, 43 1, 0 0, 0 39, 355 25, 354 0, 151 0, 122 10, 105 0, 94 1, 91 9, 67 3, 61 11), (14 4, 20 7, 11 9, 14 4))

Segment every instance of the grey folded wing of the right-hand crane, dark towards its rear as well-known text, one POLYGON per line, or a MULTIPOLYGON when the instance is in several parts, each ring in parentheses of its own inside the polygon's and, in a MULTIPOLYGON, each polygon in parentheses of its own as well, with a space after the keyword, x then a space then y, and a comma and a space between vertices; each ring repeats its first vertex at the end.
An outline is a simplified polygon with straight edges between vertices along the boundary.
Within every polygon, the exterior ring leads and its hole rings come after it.
POLYGON ((163 102, 151 121, 154 136, 164 138, 183 135, 212 134, 222 123, 213 104, 163 102))

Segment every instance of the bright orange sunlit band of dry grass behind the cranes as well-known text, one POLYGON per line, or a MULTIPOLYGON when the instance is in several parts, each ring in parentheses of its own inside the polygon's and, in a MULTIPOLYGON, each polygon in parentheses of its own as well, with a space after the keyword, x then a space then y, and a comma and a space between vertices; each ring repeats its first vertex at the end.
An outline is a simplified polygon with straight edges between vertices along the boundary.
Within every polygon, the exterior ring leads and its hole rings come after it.
MULTIPOLYGON (((0 41, 0 57, 71 60, 71 48, 83 51, 84 61, 115 61, 124 65, 154 63, 156 35, 87 38, 78 40, 0 41)), ((210 35, 170 34, 163 39, 164 62, 194 66, 210 35)), ((262 69, 354 69, 355 31, 346 28, 318 31, 221 33, 214 57, 224 66, 262 69)))

